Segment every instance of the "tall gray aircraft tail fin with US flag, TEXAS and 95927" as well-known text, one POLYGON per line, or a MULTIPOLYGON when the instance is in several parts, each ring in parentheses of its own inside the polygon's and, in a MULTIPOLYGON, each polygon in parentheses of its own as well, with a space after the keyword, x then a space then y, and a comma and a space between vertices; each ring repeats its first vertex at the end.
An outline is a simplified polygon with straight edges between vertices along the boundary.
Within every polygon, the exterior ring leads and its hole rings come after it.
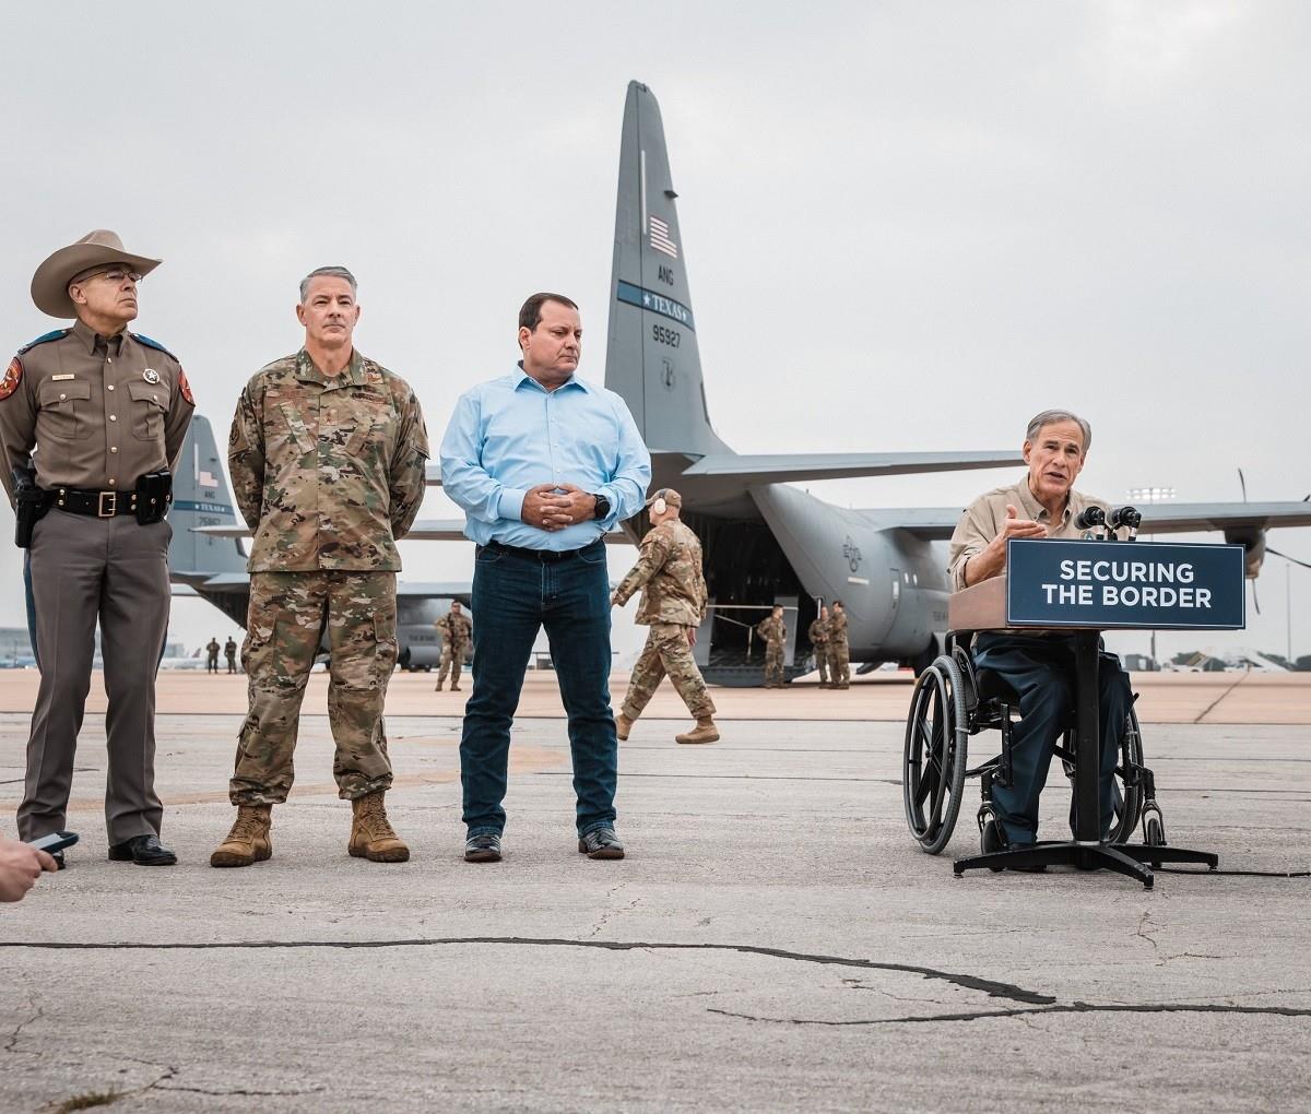
POLYGON ((656 96, 628 83, 615 208, 606 387, 632 410, 652 452, 726 452, 711 426, 656 96))

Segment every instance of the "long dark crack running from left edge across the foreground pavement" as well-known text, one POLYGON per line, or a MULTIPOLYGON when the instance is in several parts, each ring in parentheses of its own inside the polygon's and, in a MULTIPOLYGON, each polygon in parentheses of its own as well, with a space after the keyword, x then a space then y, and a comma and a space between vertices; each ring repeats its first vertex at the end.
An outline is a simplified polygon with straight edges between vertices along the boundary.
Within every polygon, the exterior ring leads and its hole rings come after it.
POLYGON ((935 967, 922 967, 916 963, 880 963, 874 959, 856 959, 844 955, 814 955, 805 951, 787 951, 781 948, 762 948, 751 944, 652 944, 621 940, 564 940, 553 937, 526 936, 446 936, 418 940, 243 940, 208 944, 73 944, 67 941, 12 941, 0 940, 0 949, 38 949, 43 951, 208 951, 231 949, 309 949, 309 948, 450 948, 459 945, 506 945, 517 948, 599 948, 606 951, 735 951, 741 955, 763 955, 768 959, 787 959, 796 963, 817 963, 827 967, 855 967, 864 971, 897 971, 906 975, 920 975, 926 979, 940 979, 965 989, 982 991, 988 997, 1009 1001, 1023 1001, 1033 1005, 1055 1003, 1051 995, 1028 991, 1013 983, 996 979, 983 979, 978 975, 962 975, 954 971, 939 971, 935 967))

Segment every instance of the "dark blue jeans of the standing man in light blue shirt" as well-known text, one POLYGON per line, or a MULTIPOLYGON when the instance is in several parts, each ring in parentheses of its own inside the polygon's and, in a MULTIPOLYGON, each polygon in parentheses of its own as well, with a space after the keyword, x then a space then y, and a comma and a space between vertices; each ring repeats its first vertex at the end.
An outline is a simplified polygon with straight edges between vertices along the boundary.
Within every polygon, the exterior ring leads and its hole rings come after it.
POLYGON ((469 835, 505 827, 510 726, 532 643, 545 626, 569 716, 578 835, 615 823, 619 742, 610 708, 610 577, 606 545, 538 561, 479 549, 473 570, 473 692, 464 709, 460 782, 469 835))

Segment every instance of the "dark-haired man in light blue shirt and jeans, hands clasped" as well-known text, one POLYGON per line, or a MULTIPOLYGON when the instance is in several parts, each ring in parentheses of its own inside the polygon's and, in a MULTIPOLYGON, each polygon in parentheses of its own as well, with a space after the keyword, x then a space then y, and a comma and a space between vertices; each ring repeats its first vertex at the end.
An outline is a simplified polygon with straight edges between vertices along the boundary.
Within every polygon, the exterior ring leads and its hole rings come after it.
POLYGON ((650 453, 623 398, 574 376, 582 324, 573 301, 532 295, 519 311, 519 370, 461 396, 442 438, 442 484, 477 543, 473 692, 460 739, 464 858, 501 860, 510 726, 543 626, 569 714, 578 851, 623 858, 602 539, 641 510, 650 453))

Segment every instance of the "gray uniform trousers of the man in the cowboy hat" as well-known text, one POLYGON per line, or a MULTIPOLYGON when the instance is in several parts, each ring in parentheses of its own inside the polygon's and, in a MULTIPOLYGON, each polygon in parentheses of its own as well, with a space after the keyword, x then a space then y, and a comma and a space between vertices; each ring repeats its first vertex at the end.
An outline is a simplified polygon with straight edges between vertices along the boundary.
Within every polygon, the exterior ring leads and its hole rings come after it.
POLYGON ((98 519, 51 510, 28 550, 29 626, 41 688, 28 740, 18 837, 67 826, 73 752, 90 689, 96 623, 105 661, 110 844, 159 834, 155 796, 155 674, 168 634, 168 522, 98 519))

